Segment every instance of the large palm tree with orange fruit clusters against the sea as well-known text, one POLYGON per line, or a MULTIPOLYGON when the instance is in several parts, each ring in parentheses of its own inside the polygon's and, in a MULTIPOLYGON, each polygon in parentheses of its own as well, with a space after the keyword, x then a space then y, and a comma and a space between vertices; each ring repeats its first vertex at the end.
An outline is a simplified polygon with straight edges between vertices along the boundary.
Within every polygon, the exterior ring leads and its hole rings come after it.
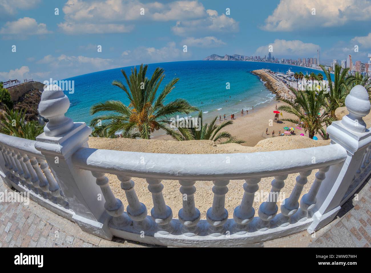
POLYGON ((129 77, 121 69, 127 85, 120 81, 113 81, 112 85, 121 88, 130 103, 127 106, 121 101, 111 100, 93 105, 91 115, 102 111, 112 112, 92 119, 90 126, 93 127, 93 136, 114 138, 116 134, 121 133, 127 138, 150 139, 152 132, 163 129, 167 134, 179 137, 177 131, 168 126, 171 123, 169 117, 180 113, 190 114, 198 109, 181 98, 165 104, 166 96, 174 89, 179 79, 172 79, 160 94, 157 94, 165 77, 164 69, 156 68, 151 79, 146 77, 147 69, 148 65, 141 64, 139 71, 136 67, 131 69, 129 77))

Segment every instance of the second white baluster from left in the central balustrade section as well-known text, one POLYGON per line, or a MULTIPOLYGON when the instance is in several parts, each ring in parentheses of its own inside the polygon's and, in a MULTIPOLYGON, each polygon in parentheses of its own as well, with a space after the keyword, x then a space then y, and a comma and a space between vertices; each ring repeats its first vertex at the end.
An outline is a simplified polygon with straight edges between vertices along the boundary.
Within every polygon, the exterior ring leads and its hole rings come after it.
POLYGON ((134 181, 129 176, 118 175, 118 180, 121 181, 121 189, 125 191, 128 199, 128 206, 126 208, 127 214, 133 220, 134 227, 139 231, 148 230, 152 223, 147 218, 147 208, 139 202, 138 196, 135 193, 134 181))

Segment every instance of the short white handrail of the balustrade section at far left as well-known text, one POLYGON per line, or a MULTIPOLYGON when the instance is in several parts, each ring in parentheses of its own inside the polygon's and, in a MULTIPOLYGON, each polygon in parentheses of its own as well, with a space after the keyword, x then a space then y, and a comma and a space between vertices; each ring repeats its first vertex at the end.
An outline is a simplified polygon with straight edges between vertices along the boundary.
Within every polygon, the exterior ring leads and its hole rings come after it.
POLYGON ((45 156, 35 148, 36 140, 23 139, 21 137, 9 136, 7 134, 0 133, 0 144, 11 147, 19 152, 27 153, 41 159, 45 159, 45 156))

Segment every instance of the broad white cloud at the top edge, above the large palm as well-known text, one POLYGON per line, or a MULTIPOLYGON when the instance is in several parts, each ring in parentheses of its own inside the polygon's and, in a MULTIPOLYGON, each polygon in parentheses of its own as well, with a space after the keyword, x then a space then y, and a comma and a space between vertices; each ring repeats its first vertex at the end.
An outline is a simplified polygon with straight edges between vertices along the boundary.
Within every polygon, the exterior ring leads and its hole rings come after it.
POLYGON ((169 21, 206 16, 204 6, 197 0, 173 1, 168 4, 156 1, 141 3, 139 0, 68 0, 63 12, 65 22, 58 26, 68 34, 124 33, 134 29, 134 25, 130 23, 124 25, 127 21, 169 21), (144 15, 140 14, 142 8, 144 15))

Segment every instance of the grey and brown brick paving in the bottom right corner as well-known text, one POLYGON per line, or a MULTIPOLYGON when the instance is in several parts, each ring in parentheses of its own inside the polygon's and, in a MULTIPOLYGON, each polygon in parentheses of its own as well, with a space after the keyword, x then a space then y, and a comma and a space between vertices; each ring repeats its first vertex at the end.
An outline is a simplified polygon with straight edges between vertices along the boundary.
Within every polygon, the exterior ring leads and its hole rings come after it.
MULTIPOLYGON (((309 247, 371 246, 371 183, 365 181, 341 208, 334 221, 322 228, 309 247)), ((317 232, 318 233, 318 232, 317 232)))

